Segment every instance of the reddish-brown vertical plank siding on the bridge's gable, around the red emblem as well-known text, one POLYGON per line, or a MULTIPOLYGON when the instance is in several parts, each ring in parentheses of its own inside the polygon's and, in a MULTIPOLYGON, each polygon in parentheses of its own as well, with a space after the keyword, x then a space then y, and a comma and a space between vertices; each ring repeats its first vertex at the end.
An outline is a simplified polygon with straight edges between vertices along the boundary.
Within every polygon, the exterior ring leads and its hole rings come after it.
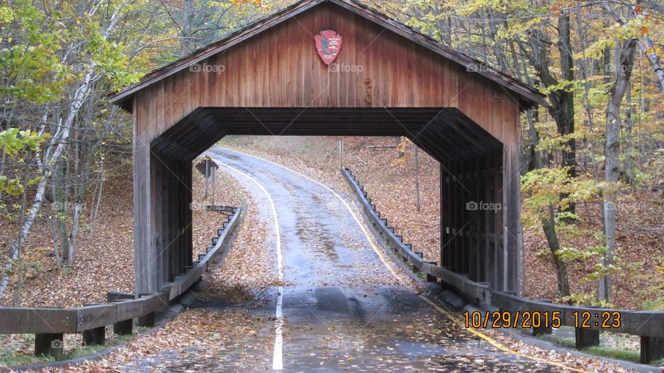
POLYGON ((196 66, 224 70, 185 69, 136 95, 134 112, 145 142, 199 107, 457 107, 501 142, 516 131, 513 93, 331 3, 196 66), (361 72, 329 71, 315 52, 313 35, 320 28, 344 37, 335 66, 361 72))

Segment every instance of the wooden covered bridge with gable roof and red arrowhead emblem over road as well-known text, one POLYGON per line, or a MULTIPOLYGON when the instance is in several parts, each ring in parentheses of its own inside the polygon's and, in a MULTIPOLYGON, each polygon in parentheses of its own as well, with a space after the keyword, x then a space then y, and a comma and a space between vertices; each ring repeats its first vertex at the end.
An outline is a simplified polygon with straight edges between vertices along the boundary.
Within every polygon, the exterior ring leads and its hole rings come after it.
POLYGON ((111 99, 133 113, 137 294, 191 264, 192 160, 225 135, 408 137, 441 164, 440 265, 519 291, 519 117, 543 97, 380 12, 301 1, 111 99))

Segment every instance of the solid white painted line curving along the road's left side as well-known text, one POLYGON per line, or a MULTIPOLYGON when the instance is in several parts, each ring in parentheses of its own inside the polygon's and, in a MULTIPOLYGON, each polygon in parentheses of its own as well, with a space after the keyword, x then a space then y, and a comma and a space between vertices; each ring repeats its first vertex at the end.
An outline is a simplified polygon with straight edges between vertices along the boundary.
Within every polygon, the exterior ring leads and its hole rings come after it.
MULTIPOLYGON (((217 161, 218 162, 218 161, 217 161)), ((256 179, 252 178, 250 175, 247 175, 246 173, 243 173, 242 171, 235 169, 232 166, 229 166, 228 164, 225 164, 223 162, 218 162, 219 164, 222 164, 223 166, 228 167, 229 169, 232 169, 233 171, 243 175, 245 178, 248 178, 252 182, 254 182, 258 187, 265 193, 265 195, 268 197, 268 200, 270 201, 270 207, 272 208, 272 213, 275 216, 275 234, 277 235, 277 271, 279 272, 279 284, 283 283, 284 280, 284 266, 282 264, 282 235, 279 233, 279 220, 277 220, 277 209, 275 208, 275 202, 273 201, 272 197, 270 196, 270 193, 268 193, 267 189, 265 189, 261 183, 257 182, 256 179)), ((277 287, 277 311, 275 312, 275 316, 277 320, 275 321, 275 348, 273 352, 273 357, 272 357, 272 369, 273 370, 283 370, 284 369, 284 334, 283 334, 283 327, 284 327, 284 316, 282 314, 282 300, 283 300, 283 295, 284 294, 284 289, 282 285, 279 285, 277 287)))

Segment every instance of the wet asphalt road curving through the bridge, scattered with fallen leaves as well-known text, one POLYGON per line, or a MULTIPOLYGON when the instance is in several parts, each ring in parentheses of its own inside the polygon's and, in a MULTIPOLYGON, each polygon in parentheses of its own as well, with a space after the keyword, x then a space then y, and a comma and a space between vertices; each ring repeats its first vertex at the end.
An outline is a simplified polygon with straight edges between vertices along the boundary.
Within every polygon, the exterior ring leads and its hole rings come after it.
POLYGON ((255 194, 281 269, 265 306, 276 320, 272 364, 243 370, 560 370, 501 352, 402 285, 329 189, 256 157, 219 148, 207 155, 255 194))

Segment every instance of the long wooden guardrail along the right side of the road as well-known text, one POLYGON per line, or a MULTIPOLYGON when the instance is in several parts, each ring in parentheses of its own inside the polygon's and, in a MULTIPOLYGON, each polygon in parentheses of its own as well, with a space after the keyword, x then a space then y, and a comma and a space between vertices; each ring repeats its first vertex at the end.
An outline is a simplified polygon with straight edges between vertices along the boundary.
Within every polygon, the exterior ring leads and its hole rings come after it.
MULTIPOLYGON (((517 312, 519 314, 530 312, 531 314, 552 316, 555 312, 555 315, 560 318, 561 325, 575 327, 576 347, 578 349, 598 345, 600 331, 616 332, 640 336, 641 363, 652 363, 652 361, 664 358, 664 312, 575 307, 554 304, 546 300, 522 298, 515 294, 492 289, 487 283, 476 283, 470 280, 468 276, 457 274, 450 269, 436 265, 436 262, 427 262, 421 253, 413 251, 412 245, 403 242, 403 237, 398 236, 394 232, 394 228, 388 226, 386 219, 380 217, 380 213, 376 211, 376 205, 371 204, 367 191, 351 171, 342 169, 342 173, 358 195, 366 216, 385 236, 391 248, 403 260, 409 262, 415 271, 423 272, 427 276, 427 280, 436 281, 436 279, 440 279, 441 283, 453 287, 475 305, 483 309, 490 309, 489 312, 484 314, 485 316, 490 318, 493 312, 499 312, 499 314, 508 312, 511 315, 516 315, 517 312), (605 322, 605 317, 602 315, 605 315, 606 312, 609 315, 618 315, 619 323, 615 321, 614 317, 611 317, 614 326, 602 327, 602 323, 605 322), (583 325, 580 325, 580 321, 584 321, 583 325)), ((531 329, 533 329, 535 335, 550 334, 551 324, 549 323, 548 327, 542 326, 531 329)))

